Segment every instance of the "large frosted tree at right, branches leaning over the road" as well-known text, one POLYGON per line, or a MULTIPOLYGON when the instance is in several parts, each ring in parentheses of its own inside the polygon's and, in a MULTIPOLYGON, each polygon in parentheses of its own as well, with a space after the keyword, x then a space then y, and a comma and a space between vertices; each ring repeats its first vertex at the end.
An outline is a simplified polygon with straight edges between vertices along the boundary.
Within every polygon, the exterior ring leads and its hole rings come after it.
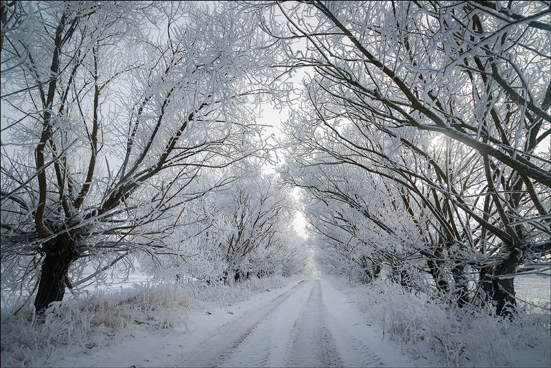
POLYGON ((450 262, 463 288, 465 267, 477 270, 471 299, 484 290, 498 314, 514 306, 511 277, 551 250, 549 4, 264 8, 263 28, 285 64, 315 71, 297 109, 304 114, 289 124, 290 155, 302 166, 348 164, 399 183, 406 203, 436 221, 428 258, 450 262), (432 140, 444 147, 440 158, 423 147, 432 140))

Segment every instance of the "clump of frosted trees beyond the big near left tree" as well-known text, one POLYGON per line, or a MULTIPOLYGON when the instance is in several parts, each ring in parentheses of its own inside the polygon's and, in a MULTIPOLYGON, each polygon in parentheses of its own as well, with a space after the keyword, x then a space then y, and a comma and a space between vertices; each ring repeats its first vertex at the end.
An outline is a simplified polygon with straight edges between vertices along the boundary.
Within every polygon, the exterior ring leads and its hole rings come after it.
POLYGON ((260 169, 228 169, 221 176, 231 185, 201 191, 204 195, 177 210, 179 226, 157 221, 149 230, 150 236, 166 236, 164 241, 171 243, 162 255, 149 254, 158 265, 152 270, 165 280, 231 284, 250 277, 289 276, 304 268, 306 255, 294 230, 297 208, 289 188, 260 169), (164 226, 172 233, 159 231, 164 226))

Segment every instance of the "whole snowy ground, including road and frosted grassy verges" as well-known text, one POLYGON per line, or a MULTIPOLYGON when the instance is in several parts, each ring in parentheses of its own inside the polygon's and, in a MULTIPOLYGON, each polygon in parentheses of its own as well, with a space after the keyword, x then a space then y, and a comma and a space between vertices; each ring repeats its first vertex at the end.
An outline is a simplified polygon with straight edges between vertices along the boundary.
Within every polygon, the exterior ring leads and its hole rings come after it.
MULTIPOLYGON (((15 349, 3 350, 2 366, 549 366, 549 329, 530 332, 531 323, 549 323, 549 313, 538 307, 516 327, 481 315, 463 318, 456 331, 457 316, 423 295, 392 283, 344 281, 255 278, 218 291, 196 290, 199 301, 132 275, 123 283, 85 288, 107 291, 91 307, 83 306, 91 299, 72 302, 68 295, 66 311, 52 313, 36 332, 26 322, 14 320, 10 327, 13 318, 3 320, 3 349, 15 349), (410 331, 400 338, 404 328, 410 331), (440 340, 446 344, 436 346, 440 340), (33 341, 45 350, 33 353, 33 341), (463 358, 452 351, 456 344, 463 358)), ((528 284, 516 284, 517 295, 549 305, 548 278, 523 281, 528 284)))

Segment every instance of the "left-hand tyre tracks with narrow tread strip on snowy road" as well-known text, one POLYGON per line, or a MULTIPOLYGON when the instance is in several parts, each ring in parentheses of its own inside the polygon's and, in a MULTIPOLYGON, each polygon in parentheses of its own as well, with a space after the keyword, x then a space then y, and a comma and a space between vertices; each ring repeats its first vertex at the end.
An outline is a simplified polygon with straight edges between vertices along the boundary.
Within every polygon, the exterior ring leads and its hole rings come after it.
MULTIPOLYGON (((302 280, 297 285, 277 296, 271 302, 264 304, 258 309, 248 310, 242 315, 234 318, 231 321, 224 323, 222 326, 214 329, 204 338, 195 349, 188 351, 180 356, 177 361, 174 361, 173 366, 183 367, 217 367, 223 365, 224 361, 230 358, 239 347, 245 342, 255 329, 262 323, 269 321, 268 316, 271 315, 277 308, 293 295, 306 283, 302 280)), ((266 364, 271 351, 271 332, 273 331, 272 323, 264 324, 261 332, 261 339, 258 341, 260 347, 264 348, 256 350, 251 357, 251 366, 263 366, 266 364)))

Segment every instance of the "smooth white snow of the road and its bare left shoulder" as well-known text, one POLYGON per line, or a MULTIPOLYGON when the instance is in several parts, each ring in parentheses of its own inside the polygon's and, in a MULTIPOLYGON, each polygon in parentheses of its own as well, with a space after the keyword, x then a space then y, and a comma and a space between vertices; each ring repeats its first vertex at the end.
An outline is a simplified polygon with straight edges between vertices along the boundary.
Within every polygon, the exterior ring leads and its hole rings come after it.
POLYGON ((225 309, 190 312, 185 327, 146 323, 116 345, 58 347, 44 366, 415 366, 324 279, 298 279, 225 309), (142 327, 143 326, 143 327, 142 327), (60 349, 65 349, 62 351, 60 349))

